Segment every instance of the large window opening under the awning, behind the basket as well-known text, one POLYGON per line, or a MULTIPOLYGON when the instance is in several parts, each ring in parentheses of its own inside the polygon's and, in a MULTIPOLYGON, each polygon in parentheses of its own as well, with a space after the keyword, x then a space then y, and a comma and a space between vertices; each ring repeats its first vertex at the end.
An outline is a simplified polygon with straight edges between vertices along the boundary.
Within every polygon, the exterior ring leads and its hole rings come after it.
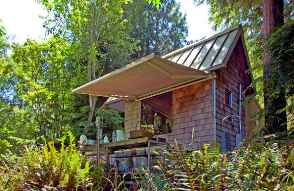
POLYGON ((172 92, 142 100, 141 120, 154 128, 155 135, 172 133, 172 92))

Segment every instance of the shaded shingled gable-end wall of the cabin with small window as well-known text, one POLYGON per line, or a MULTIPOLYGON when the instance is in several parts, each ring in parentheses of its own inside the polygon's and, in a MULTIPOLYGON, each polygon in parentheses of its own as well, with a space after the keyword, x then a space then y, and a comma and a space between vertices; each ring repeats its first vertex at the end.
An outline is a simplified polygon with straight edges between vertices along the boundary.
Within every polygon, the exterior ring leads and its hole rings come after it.
MULTIPOLYGON (((217 141, 221 142, 222 132, 230 135, 231 149, 236 147, 236 135, 240 134, 239 127, 239 84, 242 83, 242 91, 244 91, 244 78, 242 74, 241 64, 244 62, 244 57, 239 56, 238 49, 232 52, 226 67, 216 72, 216 116, 217 116, 217 141), (232 94, 232 107, 225 104, 225 91, 232 94), (229 116, 234 117, 232 122, 229 116)), ((245 94, 242 94, 242 103, 245 101, 245 94)), ((245 138, 246 123, 245 123, 245 106, 241 107, 241 122, 242 122, 242 137, 245 138)))

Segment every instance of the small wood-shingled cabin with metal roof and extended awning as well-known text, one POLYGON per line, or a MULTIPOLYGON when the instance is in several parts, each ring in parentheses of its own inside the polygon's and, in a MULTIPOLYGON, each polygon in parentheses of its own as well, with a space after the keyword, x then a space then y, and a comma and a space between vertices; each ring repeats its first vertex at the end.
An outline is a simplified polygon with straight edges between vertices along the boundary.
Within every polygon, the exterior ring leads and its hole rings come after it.
POLYGON ((124 111, 124 135, 153 127, 154 138, 202 148, 217 141, 232 150, 264 121, 248 121, 260 106, 254 93, 242 26, 162 57, 151 54, 72 92, 108 97, 102 108, 124 111), (136 127, 137 126, 137 127, 136 127))

